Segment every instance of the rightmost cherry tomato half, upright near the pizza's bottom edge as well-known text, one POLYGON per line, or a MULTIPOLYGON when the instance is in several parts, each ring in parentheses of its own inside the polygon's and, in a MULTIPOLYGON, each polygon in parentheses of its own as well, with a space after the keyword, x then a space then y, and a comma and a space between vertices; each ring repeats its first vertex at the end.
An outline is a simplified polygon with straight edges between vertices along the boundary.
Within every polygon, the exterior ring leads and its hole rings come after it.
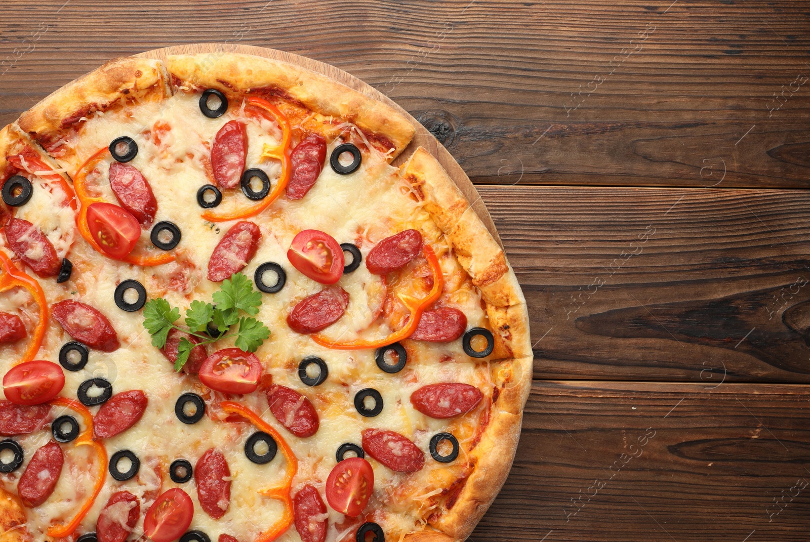
POLYGON ((333 509, 354 518, 369 504, 374 471, 365 459, 343 459, 326 479, 326 501, 333 509))

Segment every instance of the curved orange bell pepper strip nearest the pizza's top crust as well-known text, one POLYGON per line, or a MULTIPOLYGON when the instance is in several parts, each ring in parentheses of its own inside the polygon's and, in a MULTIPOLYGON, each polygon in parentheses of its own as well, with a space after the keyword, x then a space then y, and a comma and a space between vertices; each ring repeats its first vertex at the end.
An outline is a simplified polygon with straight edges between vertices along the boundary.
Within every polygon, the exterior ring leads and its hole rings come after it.
POLYGON ((224 222, 225 220, 237 220, 258 215, 279 198, 284 189, 287 188, 287 183, 290 181, 290 175, 292 173, 292 159, 290 158, 292 154, 292 149, 290 148, 292 129, 290 128, 290 122, 284 113, 281 113, 275 105, 272 105, 267 100, 251 96, 248 98, 247 102, 248 105, 254 106, 253 109, 247 110, 249 113, 255 112, 268 121, 275 121, 281 128, 281 144, 272 146, 265 143, 261 157, 262 161, 270 159, 279 160, 281 162, 281 175, 279 176, 279 180, 276 181, 275 187, 271 193, 267 194, 261 202, 248 207, 242 207, 241 209, 223 215, 216 214, 212 211, 205 211, 202 216, 209 222, 224 222))

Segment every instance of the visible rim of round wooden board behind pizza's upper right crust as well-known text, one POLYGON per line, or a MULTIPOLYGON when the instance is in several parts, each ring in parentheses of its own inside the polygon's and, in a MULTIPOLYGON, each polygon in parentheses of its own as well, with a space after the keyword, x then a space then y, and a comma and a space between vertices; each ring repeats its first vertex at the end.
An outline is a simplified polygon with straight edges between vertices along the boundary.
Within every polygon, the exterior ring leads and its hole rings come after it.
POLYGON ((399 111, 403 117, 406 117, 409 121, 411 121, 411 124, 414 126, 414 128, 416 128, 416 134, 414 135, 411 144, 407 146, 402 154, 397 156, 393 162, 393 165, 403 164, 417 147, 421 146, 426 148, 428 152, 439 160, 439 163, 450 175, 450 178, 456 183, 458 189, 462 191, 464 196, 467 198, 467 201, 471 202, 475 214, 477 214, 481 221, 484 222, 484 225, 489 230, 489 233, 492 233, 492 237, 495 237, 498 244, 503 247, 501 237, 498 236, 497 230, 495 229, 495 224, 492 222, 492 217, 489 216, 489 212, 487 211, 487 207, 484 205, 484 201, 481 199, 478 191, 475 190, 475 186, 473 186, 472 181, 470 181, 470 177, 467 177, 467 173, 464 173, 464 170, 461 169, 461 166, 458 165, 453 156, 450 155, 450 152, 447 152, 447 149, 445 149, 445 147, 443 147, 441 143, 439 143, 437 139, 433 137, 433 134, 428 132, 428 130, 426 130, 424 126, 422 126, 419 121, 416 120, 416 118, 412 117, 411 113, 408 113, 405 109, 401 108, 396 102, 394 102, 394 100, 391 100, 382 92, 377 91, 376 88, 364 83, 360 79, 357 79, 354 75, 351 75, 343 70, 339 70, 335 66, 331 66, 325 62, 318 62, 312 58, 301 57, 300 55, 279 51, 278 49, 257 47, 255 45, 220 43, 175 45, 173 47, 164 47, 162 49, 152 49, 151 51, 140 53, 135 56, 164 60, 168 55, 172 54, 194 53, 252 54, 256 57, 273 58, 275 60, 289 62, 291 64, 305 67, 308 70, 312 70, 319 74, 326 75, 331 79, 335 79, 339 83, 343 83, 347 87, 351 87, 356 91, 363 92, 366 96, 369 96, 374 100, 379 100, 386 105, 390 105, 399 111))

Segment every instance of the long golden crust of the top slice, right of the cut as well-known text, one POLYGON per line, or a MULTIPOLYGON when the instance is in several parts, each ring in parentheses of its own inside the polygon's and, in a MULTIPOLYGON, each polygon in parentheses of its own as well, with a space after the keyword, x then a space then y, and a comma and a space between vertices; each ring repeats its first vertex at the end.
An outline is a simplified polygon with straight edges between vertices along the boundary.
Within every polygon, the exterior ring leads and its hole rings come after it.
POLYGON ((269 89, 318 113, 353 122, 388 139, 394 146, 392 159, 403 152, 415 132, 411 122, 390 106, 288 62, 248 54, 200 53, 169 56, 166 64, 169 74, 184 87, 223 92, 233 87, 243 92, 269 89))

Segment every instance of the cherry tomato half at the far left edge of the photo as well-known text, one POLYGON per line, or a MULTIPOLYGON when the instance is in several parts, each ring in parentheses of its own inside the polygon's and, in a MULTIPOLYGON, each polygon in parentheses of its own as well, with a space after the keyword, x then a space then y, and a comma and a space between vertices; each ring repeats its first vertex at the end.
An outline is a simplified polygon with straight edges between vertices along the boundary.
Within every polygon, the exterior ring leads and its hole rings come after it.
POLYGON ((6 399, 16 404, 40 404, 53 399, 65 386, 62 367, 50 361, 26 361, 2 378, 6 399))

